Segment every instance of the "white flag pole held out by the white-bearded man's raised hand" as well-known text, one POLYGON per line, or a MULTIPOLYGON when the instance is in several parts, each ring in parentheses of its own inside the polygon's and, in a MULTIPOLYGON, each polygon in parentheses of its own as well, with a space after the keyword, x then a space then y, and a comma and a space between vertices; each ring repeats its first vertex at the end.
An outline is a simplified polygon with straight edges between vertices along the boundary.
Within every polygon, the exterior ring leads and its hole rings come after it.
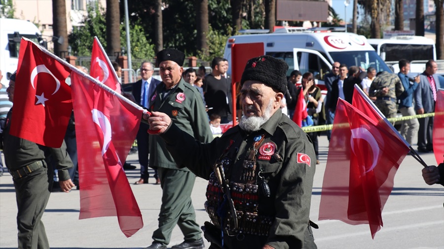
MULTIPOLYGON (((101 87, 102 89, 104 89, 105 91, 107 91, 108 93, 111 93, 113 95, 115 95, 116 97, 120 98, 122 101, 126 102, 127 104, 133 106, 134 108, 136 108, 137 110, 141 110, 144 112, 144 114, 148 114, 150 115, 150 113, 142 108, 141 106, 137 105, 136 103, 134 103, 133 101, 129 100, 128 98, 126 98, 125 96, 121 95, 120 93, 115 92, 114 90, 112 90, 111 88, 109 88, 107 85, 103 84, 102 82, 94 79, 93 77, 91 77, 91 75, 84 73, 83 71, 81 71, 80 69, 78 69, 77 67, 73 66, 72 64, 66 62, 65 60, 62 60, 60 57, 57 57, 56 55, 54 55, 53 53, 49 52, 48 50, 46 50, 45 48, 43 48, 42 46, 38 45, 37 43, 35 43, 34 41, 26 38, 26 37, 22 37, 22 39, 24 39, 25 41, 29 41, 32 42, 34 45, 37 46, 38 49, 40 49, 43 53, 47 54, 48 56, 52 57, 54 60, 64 64, 65 66, 69 67, 72 71, 74 71, 77 74, 82 75, 83 77, 87 78, 88 80, 92 81, 94 84, 96 84, 97 86, 101 87)), ((144 119, 142 119, 144 120, 144 119)))

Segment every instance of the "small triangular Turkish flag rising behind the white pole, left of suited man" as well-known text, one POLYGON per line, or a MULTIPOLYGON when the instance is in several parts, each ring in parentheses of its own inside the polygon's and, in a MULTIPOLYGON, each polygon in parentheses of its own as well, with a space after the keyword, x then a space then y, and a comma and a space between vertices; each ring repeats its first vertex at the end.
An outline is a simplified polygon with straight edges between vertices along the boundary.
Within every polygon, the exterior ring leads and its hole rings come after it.
POLYGON ((91 53, 90 75, 96 80, 105 84, 107 87, 121 93, 120 83, 115 73, 114 67, 111 65, 110 59, 103 51, 99 39, 94 37, 93 49, 91 53))

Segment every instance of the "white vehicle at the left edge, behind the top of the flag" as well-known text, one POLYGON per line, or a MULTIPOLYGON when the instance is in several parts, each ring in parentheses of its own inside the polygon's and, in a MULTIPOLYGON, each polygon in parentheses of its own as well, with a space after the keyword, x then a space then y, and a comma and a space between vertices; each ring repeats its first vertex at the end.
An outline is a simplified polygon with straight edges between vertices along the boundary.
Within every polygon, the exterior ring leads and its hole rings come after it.
POLYGON ((1 84, 9 85, 8 73, 17 70, 20 39, 26 37, 35 42, 41 40, 36 25, 25 20, 0 18, 0 70, 1 84))

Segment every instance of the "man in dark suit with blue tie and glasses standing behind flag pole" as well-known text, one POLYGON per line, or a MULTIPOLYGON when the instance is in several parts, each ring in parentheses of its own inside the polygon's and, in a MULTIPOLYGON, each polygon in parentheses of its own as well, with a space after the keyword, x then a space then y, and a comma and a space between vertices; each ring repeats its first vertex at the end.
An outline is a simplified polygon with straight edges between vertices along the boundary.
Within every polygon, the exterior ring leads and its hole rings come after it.
MULTIPOLYGON (((154 72, 154 67, 150 62, 142 62, 140 66, 140 76, 141 80, 133 84, 132 94, 136 103, 142 107, 149 108, 148 103, 150 97, 153 95, 154 90, 157 85, 160 84, 159 80, 152 77, 154 72)), ((137 153, 139 156, 140 163, 140 179, 134 184, 147 184, 148 183, 148 125, 145 123, 140 123, 139 131, 137 132, 137 153)), ((154 170, 154 178, 156 179, 156 184, 160 184, 159 178, 157 177, 157 170, 154 170)))

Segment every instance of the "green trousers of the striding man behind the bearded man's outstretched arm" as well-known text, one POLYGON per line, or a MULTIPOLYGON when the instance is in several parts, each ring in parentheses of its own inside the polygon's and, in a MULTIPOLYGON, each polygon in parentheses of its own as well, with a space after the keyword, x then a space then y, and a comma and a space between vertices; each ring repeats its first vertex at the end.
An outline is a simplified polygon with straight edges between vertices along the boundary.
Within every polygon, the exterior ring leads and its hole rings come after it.
POLYGON ((168 245, 176 224, 184 234, 185 241, 200 239, 201 230, 196 223, 196 214, 191 203, 191 191, 196 176, 189 171, 176 169, 158 168, 157 172, 162 187, 162 205, 159 228, 152 234, 152 239, 155 243, 168 245))

